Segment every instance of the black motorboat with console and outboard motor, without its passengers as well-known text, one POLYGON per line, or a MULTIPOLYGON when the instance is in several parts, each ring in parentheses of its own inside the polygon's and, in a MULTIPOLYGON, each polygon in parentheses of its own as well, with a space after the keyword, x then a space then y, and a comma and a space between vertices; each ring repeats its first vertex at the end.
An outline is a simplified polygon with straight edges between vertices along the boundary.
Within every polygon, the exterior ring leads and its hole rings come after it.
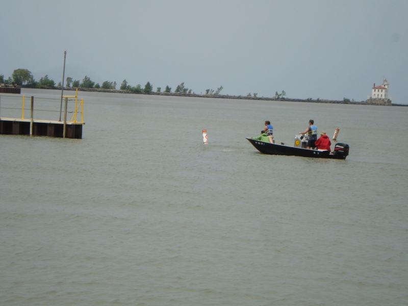
POLYGON ((335 150, 333 152, 330 152, 329 150, 307 149, 306 145, 308 143, 308 137, 303 135, 295 135, 294 146, 286 145, 285 142, 275 142, 275 140, 274 143, 269 143, 251 138, 247 139, 258 151, 271 155, 346 159, 350 148, 348 144, 338 142, 336 143, 335 150))

